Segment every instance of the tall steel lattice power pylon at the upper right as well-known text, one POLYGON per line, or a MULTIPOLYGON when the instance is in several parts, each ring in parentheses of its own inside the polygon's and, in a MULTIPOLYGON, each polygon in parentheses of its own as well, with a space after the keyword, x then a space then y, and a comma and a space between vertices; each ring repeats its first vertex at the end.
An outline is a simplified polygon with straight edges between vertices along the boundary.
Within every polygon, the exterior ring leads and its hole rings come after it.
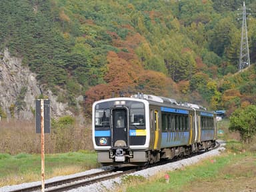
POLYGON ((246 25, 247 13, 245 11, 246 11, 245 1, 243 1, 243 24, 242 24, 242 33, 241 33, 239 71, 250 66, 250 55, 249 55, 247 25, 246 25))

